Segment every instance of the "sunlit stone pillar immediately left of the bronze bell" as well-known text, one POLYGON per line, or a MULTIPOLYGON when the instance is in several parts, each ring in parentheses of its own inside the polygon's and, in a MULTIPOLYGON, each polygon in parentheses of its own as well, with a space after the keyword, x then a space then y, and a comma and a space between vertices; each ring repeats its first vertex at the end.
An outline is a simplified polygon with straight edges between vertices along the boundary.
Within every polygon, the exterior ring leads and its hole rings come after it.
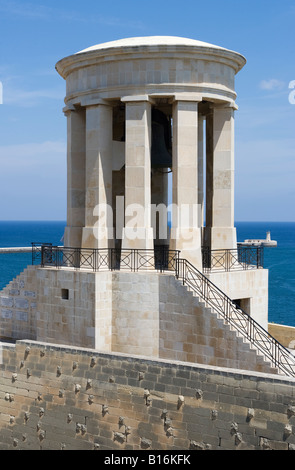
POLYGON ((147 96, 126 102, 125 227, 122 248, 153 249, 151 226, 151 103, 147 96))

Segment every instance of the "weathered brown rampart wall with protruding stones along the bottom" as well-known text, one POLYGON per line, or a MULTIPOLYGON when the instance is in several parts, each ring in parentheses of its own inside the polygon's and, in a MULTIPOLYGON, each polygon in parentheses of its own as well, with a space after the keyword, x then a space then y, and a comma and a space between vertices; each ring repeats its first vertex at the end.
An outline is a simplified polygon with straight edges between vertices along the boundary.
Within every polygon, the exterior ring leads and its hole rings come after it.
POLYGON ((294 449, 295 379, 19 341, 1 450, 294 449))

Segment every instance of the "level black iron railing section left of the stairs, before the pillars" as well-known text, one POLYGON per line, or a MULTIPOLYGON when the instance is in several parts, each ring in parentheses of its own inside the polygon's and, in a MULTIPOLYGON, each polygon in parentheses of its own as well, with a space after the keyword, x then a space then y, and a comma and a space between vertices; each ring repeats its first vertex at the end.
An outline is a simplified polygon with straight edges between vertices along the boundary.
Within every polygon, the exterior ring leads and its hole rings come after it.
POLYGON ((156 269, 176 271, 179 252, 159 246, 153 250, 117 248, 67 248, 49 244, 33 247, 33 264, 42 267, 76 268, 92 271, 156 269))

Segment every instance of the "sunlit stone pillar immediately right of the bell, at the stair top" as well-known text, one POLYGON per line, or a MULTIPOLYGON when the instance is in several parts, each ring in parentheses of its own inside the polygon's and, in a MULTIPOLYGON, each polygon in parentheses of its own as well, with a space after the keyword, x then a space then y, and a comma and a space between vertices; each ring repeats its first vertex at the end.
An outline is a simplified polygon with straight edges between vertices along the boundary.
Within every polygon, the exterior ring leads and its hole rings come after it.
POLYGON ((170 248, 202 267, 198 204, 198 101, 173 104, 173 188, 170 248))

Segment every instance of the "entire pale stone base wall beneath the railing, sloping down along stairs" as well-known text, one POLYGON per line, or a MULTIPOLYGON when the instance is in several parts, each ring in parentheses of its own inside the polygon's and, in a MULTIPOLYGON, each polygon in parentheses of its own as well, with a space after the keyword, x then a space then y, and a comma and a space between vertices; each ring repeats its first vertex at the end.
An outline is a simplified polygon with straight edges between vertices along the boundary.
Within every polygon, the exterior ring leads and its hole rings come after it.
POLYGON ((0 302, 2 338, 274 372, 172 274, 31 266, 0 302))

